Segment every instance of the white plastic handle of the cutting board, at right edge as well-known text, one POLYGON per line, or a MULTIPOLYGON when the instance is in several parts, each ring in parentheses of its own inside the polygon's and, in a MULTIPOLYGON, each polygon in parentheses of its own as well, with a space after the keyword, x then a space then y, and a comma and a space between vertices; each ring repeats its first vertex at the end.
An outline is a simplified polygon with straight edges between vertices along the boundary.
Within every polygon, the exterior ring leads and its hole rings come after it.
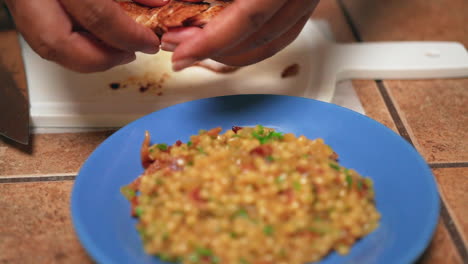
POLYGON ((338 80, 468 77, 468 53, 456 42, 338 44, 338 80))

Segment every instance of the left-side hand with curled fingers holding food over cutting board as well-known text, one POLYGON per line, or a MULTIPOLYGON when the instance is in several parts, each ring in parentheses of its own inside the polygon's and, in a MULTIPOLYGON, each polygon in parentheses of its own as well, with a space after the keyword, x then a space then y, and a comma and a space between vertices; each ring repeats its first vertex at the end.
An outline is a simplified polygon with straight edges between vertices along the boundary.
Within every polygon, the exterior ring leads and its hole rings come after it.
MULTIPOLYGON (((140 0, 163 5, 164 0, 140 0)), ((113 0, 6 0, 16 27, 42 58, 88 73, 154 54, 158 37, 113 0)))

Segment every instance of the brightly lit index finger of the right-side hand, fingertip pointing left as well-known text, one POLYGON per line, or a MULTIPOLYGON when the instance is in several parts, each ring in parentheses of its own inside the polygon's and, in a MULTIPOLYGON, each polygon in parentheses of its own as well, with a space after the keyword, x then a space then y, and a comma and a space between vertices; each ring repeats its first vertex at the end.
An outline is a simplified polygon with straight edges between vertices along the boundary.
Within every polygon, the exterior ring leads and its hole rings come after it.
POLYGON ((213 57, 257 31, 287 0, 236 0, 206 25, 201 34, 177 47, 174 69, 213 57))

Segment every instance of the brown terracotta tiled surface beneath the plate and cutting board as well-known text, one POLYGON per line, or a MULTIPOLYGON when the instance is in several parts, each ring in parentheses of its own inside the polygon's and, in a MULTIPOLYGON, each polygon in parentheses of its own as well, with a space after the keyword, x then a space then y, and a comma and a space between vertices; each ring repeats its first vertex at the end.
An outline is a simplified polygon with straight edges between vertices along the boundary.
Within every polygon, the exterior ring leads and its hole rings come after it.
MULTIPOLYGON (((329 21, 337 41, 454 40, 468 46, 466 0, 341 1, 323 0, 313 16, 329 21)), ((434 168, 442 216, 418 263, 468 263, 467 79, 353 85, 366 114, 412 142, 434 168)), ((70 190, 73 175, 111 133, 35 135, 29 148, 0 140, 0 263, 91 262, 73 231, 70 190)))

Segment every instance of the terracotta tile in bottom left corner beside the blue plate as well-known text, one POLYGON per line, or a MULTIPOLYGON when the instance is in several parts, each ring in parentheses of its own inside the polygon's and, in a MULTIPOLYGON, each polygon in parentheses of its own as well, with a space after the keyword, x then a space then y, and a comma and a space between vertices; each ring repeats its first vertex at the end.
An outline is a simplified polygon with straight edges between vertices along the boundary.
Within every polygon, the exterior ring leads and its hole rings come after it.
POLYGON ((0 184, 0 263, 91 262, 71 223, 72 185, 72 181, 0 184))

